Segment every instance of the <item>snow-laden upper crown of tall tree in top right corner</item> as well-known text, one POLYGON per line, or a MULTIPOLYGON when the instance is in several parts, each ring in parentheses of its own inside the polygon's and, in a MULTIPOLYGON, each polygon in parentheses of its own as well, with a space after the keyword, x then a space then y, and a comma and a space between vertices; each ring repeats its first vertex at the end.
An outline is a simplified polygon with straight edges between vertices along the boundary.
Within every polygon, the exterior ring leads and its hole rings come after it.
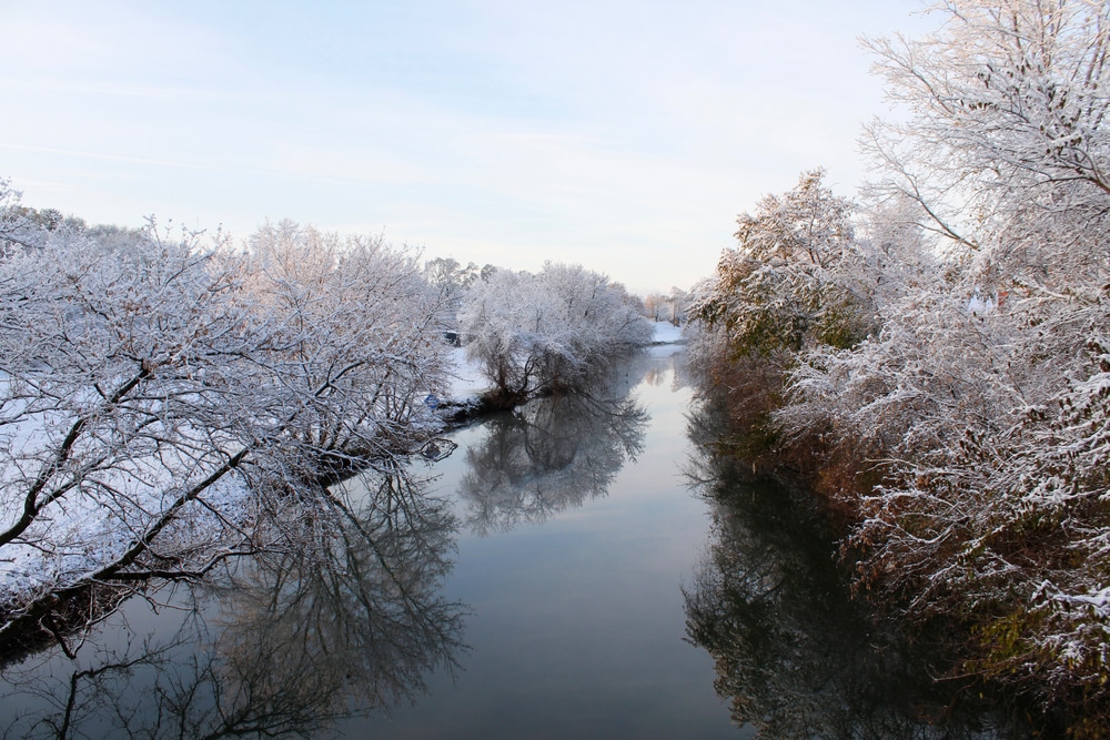
POLYGON ((1097 0, 948 0, 924 40, 875 40, 909 115, 869 126, 877 195, 978 254, 973 280, 1101 284, 1110 195, 1110 8, 1097 0))

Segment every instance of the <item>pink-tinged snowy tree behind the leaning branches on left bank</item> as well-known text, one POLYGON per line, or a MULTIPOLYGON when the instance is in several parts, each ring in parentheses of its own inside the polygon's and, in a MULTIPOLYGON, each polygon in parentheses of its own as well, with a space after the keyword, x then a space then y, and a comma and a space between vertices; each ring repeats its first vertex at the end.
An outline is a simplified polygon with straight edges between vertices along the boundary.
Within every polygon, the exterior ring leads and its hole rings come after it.
POLYGON ((290 222, 260 229, 250 247, 248 291, 284 342, 275 369, 313 399, 300 409, 313 453, 376 458, 424 438, 435 422, 421 399, 442 391, 446 355, 442 296, 416 256, 290 222))

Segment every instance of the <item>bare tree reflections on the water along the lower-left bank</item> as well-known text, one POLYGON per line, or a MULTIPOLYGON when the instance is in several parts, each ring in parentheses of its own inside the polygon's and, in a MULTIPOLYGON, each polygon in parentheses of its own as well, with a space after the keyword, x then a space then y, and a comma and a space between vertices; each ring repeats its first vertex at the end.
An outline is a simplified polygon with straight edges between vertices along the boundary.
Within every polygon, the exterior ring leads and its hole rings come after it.
POLYGON ((461 649, 464 610, 440 595, 454 534, 404 476, 290 501, 260 519, 258 556, 149 597, 158 631, 132 602, 72 657, 4 669, 3 737, 319 737, 411 701, 461 649))

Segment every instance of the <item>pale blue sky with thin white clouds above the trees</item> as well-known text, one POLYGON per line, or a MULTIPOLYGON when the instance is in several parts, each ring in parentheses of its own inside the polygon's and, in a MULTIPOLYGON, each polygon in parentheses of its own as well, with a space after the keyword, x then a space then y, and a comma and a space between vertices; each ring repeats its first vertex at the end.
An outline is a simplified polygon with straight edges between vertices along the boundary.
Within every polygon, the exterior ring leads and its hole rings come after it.
POLYGON ((737 214, 894 114, 917 0, 0 0, 0 176, 89 223, 291 219, 688 288, 737 214))

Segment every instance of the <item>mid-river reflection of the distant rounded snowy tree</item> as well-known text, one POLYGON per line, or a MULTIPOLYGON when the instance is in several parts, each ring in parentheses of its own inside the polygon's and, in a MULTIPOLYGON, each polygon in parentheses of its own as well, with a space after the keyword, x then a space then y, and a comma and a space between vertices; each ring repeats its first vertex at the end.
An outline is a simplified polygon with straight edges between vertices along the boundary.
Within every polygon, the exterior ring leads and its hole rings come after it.
POLYGON ((458 487, 466 525, 478 535, 504 531, 604 496, 644 447, 649 417, 628 395, 643 372, 633 383, 626 377, 588 393, 538 398, 488 419, 485 438, 466 450, 458 487))

